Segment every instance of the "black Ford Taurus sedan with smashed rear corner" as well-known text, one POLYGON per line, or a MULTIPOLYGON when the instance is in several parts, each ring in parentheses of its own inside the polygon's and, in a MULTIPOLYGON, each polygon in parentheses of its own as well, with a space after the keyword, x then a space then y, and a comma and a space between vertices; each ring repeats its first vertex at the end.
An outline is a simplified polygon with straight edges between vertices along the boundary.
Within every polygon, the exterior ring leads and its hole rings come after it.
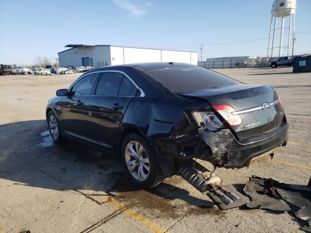
POLYGON ((272 86, 189 64, 93 69, 56 95, 46 108, 53 140, 66 136, 121 157, 142 188, 172 176, 181 160, 240 168, 288 140, 272 86))

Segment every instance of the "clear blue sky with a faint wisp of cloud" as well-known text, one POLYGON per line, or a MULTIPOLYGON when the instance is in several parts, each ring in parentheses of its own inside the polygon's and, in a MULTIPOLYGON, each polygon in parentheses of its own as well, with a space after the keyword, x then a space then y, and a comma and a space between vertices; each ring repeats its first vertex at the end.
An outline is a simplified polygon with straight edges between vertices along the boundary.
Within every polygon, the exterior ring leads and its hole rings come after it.
MULTIPOLYGON (((0 63, 57 58, 67 44, 198 51, 199 44, 268 37, 273 0, 0 0, 0 63), (5 32, 5 33, 3 33, 5 32)), ((311 31, 311 0, 297 0, 296 32, 311 31)), ((286 34, 286 32, 284 33, 286 34)), ((205 45, 203 59, 265 56, 267 40, 205 45)), ((296 33, 295 53, 311 52, 296 33)))

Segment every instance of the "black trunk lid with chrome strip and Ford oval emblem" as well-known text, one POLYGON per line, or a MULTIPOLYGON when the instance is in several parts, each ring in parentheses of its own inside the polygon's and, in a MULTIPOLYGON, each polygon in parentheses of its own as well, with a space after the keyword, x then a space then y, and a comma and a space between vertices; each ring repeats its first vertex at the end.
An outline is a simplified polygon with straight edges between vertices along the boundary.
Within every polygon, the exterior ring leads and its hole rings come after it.
MULTIPOLYGON (((234 84, 203 91, 179 93, 182 96, 196 97, 207 100, 211 106, 229 104, 236 111, 258 108, 256 111, 239 114, 240 125, 231 126, 239 139, 248 139, 275 130, 283 121, 284 110, 278 100, 275 89, 267 85, 234 84), (270 103, 267 110, 262 109, 263 103, 270 103)), ((266 106, 267 107, 267 106, 266 106)))

